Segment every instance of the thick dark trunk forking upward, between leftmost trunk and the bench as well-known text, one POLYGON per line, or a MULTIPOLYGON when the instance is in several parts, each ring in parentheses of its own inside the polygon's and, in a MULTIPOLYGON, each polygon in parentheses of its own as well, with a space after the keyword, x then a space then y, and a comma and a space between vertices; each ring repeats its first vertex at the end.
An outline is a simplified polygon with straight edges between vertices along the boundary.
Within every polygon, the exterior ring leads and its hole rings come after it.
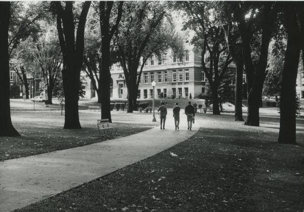
POLYGON ((65 96, 63 129, 81 129, 78 113, 79 83, 83 64, 85 24, 91 2, 86 1, 82 6, 76 42, 73 3, 66 2, 65 9, 60 2, 54 4, 57 8, 57 30, 63 56, 62 81, 65 96))

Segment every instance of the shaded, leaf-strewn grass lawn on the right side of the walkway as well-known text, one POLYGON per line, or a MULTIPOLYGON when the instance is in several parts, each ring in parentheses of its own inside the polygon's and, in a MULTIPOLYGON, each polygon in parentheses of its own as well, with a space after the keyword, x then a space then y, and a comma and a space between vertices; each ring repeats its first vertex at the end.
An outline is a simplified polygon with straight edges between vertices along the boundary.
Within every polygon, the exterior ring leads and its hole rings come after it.
POLYGON ((303 211, 303 120, 298 145, 282 145, 278 118, 259 128, 229 114, 196 118, 192 138, 18 211, 303 211))

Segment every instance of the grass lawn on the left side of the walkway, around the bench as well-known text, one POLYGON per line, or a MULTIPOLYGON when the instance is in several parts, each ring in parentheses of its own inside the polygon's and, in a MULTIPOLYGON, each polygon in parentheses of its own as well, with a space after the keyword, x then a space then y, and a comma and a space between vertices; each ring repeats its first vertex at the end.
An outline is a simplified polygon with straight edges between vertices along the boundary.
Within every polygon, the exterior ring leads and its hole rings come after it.
MULTIPOLYGON (((12 111, 13 124, 21 137, 2 137, 0 160, 36 155, 101 142, 97 119, 100 112, 80 112, 82 130, 63 130, 60 111, 12 111)), ((151 125, 114 123, 118 136, 129 136, 150 129, 151 125)))

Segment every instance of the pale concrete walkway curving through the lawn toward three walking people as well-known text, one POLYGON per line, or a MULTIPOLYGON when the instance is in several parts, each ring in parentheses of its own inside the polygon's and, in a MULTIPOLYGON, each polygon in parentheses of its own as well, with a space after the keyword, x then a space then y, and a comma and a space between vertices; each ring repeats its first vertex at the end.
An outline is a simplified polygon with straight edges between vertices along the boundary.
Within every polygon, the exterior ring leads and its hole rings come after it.
POLYGON ((172 113, 169 113, 166 130, 157 126, 128 137, 1 162, 0 211, 48 198, 188 139, 200 124, 196 120, 193 130, 188 131, 186 116, 181 114, 180 118, 179 131, 174 130, 172 113))

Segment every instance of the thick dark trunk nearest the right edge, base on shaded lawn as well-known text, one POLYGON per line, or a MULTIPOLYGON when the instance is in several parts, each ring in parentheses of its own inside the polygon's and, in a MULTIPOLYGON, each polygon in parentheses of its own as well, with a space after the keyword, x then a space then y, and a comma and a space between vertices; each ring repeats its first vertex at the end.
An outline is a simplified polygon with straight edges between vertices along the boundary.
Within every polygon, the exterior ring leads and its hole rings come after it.
POLYGON ((295 94, 296 76, 300 55, 300 31, 294 4, 286 4, 284 15, 287 25, 287 49, 283 68, 279 143, 296 144, 295 94))

